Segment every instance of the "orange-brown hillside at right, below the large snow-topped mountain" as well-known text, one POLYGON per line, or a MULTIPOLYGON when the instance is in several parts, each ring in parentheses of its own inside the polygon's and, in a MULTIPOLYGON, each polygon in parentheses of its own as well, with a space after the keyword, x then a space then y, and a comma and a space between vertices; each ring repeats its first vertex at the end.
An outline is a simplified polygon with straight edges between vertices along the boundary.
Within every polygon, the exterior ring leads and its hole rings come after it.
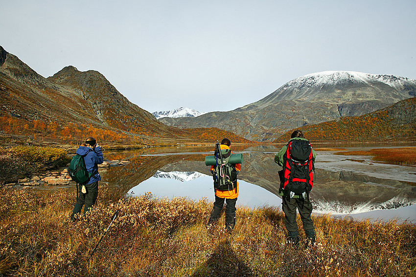
MULTIPOLYGON (((274 142, 286 142, 295 129, 274 142)), ((416 97, 405 99, 367 115, 347 116, 303 126, 305 137, 315 141, 385 141, 416 138, 416 97)))

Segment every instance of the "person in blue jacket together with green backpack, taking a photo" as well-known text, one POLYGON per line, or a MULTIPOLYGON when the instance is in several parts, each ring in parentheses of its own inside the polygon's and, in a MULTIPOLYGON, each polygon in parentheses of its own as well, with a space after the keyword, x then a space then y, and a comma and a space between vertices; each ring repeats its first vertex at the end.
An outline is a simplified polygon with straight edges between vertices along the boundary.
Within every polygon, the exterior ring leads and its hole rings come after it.
POLYGON ((85 144, 79 146, 69 165, 69 175, 77 183, 76 203, 72 210, 71 220, 75 221, 75 214, 80 213, 84 206, 84 215, 95 204, 98 196, 98 164, 103 163, 101 147, 95 138, 89 137, 85 144), (85 146, 84 146, 85 145, 85 146))

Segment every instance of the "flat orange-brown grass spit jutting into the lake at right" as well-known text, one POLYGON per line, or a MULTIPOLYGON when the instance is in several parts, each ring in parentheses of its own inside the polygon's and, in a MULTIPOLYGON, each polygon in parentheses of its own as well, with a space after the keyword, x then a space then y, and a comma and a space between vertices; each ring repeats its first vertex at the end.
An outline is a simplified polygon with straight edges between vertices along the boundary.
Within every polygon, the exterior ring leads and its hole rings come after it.
POLYGON ((374 161, 388 162, 394 164, 414 164, 416 165, 416 147, 403 148, 382 148, 371 149, 368 151, 344 151, 337 152, 335 155, 357 155, 373 156, 374 161))

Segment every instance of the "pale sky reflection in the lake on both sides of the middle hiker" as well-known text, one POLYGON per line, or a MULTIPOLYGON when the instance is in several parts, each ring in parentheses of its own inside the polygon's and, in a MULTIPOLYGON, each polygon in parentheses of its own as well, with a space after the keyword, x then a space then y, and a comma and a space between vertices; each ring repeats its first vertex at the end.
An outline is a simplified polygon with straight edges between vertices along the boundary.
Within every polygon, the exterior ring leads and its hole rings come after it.
MULTIPOLYGON (((237 206, 262 207, 280 206, 281 199, 270 191, 248 182, 238 180, 239 192, 237 206)), ((206 197, 214 201, 214 187, 212 177, 203 175, 191 181, 181 182, 175 179, 161 179, 151 177, 130 189, 135 195, 151 192, 156 197, 186 197, 199 200, 206 197)))

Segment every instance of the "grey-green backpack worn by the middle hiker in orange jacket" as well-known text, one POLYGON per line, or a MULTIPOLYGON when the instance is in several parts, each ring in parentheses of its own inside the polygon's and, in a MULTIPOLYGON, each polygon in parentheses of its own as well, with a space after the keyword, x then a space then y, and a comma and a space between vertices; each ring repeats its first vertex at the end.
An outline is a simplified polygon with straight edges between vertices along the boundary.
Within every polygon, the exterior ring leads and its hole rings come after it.
POLYGON ((235 183, 237 180, 237 171, 229 163, 231 157, 230 149, 215 150, 216 164, 214 167, 214 187, 218 190, 230 191, 235 189, 235 183))

